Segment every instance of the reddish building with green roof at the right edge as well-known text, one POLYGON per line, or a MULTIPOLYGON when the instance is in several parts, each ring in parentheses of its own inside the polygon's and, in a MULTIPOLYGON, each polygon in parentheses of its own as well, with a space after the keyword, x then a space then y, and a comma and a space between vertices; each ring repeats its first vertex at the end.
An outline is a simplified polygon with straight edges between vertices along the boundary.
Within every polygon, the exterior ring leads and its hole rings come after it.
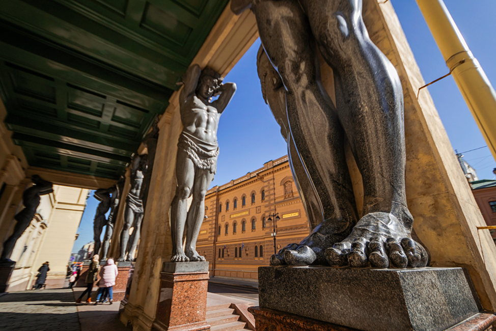
MULTIPOLYGON (((483 179, 471 182, 472 193, 488 226, 496 226, 496 180, 483 179)), ((496 231, 491 230, 496 240, 496 231)))

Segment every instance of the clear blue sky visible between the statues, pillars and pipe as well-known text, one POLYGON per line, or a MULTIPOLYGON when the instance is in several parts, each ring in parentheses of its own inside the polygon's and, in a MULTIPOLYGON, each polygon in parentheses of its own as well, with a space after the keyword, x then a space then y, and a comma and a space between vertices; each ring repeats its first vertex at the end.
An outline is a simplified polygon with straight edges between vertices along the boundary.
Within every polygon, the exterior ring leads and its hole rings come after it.
MULTIPOLYGON (((396 10, 424 80, 430 82, 448 73, 415 0, 390 2, 396 10)), ((496 63, 493 61, 496 54, 496 1, 445 0, 445 4, 489 80, 493 85, 496 84, 496 63)), ((261 168, 264 162, 287 154, 279 125, 262 98, 256 67, 259 46, 260 40, 257 40, 225 78, 225 81, 236 83, 237 91, 219 123, 217 137, 221 153, 217 161, 217 174, 210 187, 225 184, 261 168)), ((453 149, 465 152, 486 146, 451 76, 428 89, 453 149)), ((476 169, 480 179, 495 177, 492 169, 496 168, 496 162, 487 147, 464 153, 464 156, 476 169)), ((97 205, 98 201, 91 195, 73 252, 92 241, 93 217, 97 205)))

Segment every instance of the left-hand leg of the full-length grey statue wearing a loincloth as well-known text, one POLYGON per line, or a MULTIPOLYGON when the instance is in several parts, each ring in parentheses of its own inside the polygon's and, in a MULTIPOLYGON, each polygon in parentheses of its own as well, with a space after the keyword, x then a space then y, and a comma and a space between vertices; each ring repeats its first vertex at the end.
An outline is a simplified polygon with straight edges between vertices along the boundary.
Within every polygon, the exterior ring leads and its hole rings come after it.
POLYGON ((176 159, 176 195, 171 204, 172 262, 188 262, 184 254, 183 236, 188 212, 188 198, 195 180, 195 164, 188 154, 178 149, 176 159))

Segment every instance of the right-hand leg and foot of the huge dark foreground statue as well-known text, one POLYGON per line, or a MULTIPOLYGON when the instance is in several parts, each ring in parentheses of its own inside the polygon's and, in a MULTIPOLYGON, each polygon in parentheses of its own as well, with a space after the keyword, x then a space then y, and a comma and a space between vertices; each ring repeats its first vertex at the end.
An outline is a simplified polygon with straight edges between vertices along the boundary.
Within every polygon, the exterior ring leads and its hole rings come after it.
POLYGON ((302 0, 312 32, 333 67, 337 108, 364 181, 364 216, 326 252, 331 265, 423 267, 406 206, 403 92, 396 69, 371 42, 362 0, 302 0), (349 252, 349 253, 348 253, 349 252))

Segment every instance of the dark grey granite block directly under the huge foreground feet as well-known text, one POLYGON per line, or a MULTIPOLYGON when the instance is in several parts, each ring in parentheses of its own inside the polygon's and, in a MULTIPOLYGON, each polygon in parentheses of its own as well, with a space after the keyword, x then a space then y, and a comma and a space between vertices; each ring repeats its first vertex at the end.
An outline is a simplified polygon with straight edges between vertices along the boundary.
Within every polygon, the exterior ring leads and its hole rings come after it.
POLYGON ((479 310, 461 268, 260 267, 261 308, 365 331, 442 331, 479 310))

